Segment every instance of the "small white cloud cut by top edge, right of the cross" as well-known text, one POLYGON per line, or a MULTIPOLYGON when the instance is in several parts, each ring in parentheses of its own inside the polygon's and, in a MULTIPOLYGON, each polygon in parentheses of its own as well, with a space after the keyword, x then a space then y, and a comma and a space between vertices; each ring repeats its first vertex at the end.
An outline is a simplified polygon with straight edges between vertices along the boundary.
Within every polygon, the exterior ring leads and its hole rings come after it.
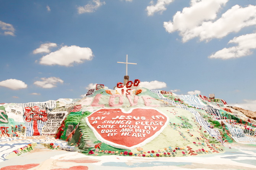
POLYGON ((163 11, 166 10, 165 6, 169 5, 171 2, 173 2, 173 0, 157 0, 156 5, 153 5, 153 1, 151 1, 150 3, 152 5, 147 6, 147 15, 151 16, 154 15, 154 13, 159 12, 160 14, 162 14, 163 11))

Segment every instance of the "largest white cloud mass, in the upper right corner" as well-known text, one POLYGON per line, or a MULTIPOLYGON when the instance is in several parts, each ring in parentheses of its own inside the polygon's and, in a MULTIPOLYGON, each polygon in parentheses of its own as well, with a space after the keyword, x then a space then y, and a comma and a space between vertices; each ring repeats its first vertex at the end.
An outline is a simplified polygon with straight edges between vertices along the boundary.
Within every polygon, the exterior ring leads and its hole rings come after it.
POLYGON ((189 8, 183 8, 173 16, 173 22, 164 22, 169 33, 179 31, 183 42, 200 37, 200 40, 222 38, 231 32, 238 32, 244 27, 256 25, 256 6, 242 8, 233 6, 214 21, 217 12, 228 0, 193 0, 189 8))

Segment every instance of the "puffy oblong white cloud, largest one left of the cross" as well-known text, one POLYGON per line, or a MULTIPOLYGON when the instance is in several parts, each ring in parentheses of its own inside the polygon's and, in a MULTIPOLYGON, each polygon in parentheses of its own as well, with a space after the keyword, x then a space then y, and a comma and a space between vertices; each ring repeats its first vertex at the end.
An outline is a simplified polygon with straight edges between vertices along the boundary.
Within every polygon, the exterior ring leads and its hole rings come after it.
POLYGON ((40 64, 73 66, 73 63, 83 63, 83 60, 92 60, 92 50, 79 46, 63 46, 40 59, 40 64))

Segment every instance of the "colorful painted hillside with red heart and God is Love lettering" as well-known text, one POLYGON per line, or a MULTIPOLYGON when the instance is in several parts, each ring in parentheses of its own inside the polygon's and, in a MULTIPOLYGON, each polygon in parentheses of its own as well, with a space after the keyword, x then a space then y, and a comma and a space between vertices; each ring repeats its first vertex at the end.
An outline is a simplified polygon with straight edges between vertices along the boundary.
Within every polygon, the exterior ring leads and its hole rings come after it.
MULTIPOLYGON (((68 142, 90 155, 196 156, 224 152, 225 143, 256 145, 256 121, 225 100, 141 87, 97 84, 82 99, 0 105, 1 137, 37 135, 68 142)), ((67 149, 69 148, 69 149, 67 149)))

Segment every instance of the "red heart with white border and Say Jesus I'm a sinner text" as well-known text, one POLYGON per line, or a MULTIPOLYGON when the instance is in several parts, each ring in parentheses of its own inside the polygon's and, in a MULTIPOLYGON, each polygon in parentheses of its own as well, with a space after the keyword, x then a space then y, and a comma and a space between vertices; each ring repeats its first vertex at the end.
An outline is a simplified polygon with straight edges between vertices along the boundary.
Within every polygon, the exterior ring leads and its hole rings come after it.
POLYGON ((86 118, 98 140, 113 147, 133 149, 157 137, 169 118, 154 108, 102 108, 86 118))

